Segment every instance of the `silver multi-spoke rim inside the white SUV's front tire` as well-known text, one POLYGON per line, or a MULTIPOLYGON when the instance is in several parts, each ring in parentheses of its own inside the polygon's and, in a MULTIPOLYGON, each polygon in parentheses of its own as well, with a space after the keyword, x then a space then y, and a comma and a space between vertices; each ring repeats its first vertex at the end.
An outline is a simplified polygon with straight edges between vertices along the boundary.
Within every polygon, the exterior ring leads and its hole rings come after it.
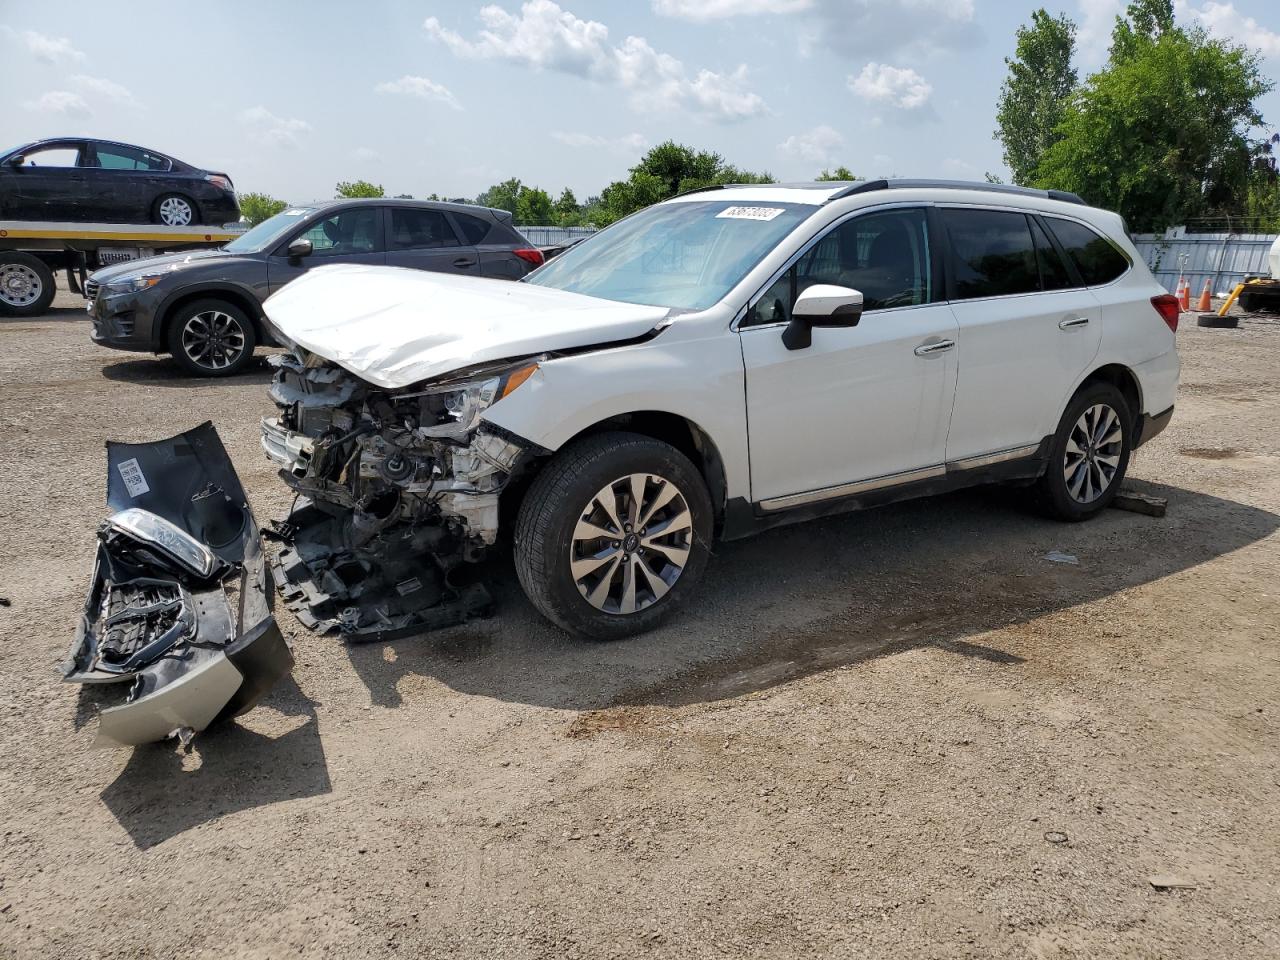
POLYGON ((658 603, 685 570, 694 516, 671 480, 631 474, 602 488, 579 515, 570 571, 579 593, 604 613, 658 603))

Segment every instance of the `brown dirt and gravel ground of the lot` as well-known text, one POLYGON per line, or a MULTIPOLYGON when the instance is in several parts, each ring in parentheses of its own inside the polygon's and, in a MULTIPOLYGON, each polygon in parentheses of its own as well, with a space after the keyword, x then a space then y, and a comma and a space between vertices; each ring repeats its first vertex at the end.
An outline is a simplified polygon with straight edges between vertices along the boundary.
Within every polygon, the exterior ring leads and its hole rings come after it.
POLYGON ((1280 325, 1184 316, 1132 470, 1164 520, 796 526, 614 645, 509 562, 497 618, 420 639, 278 609, 293 678, 183 754, 90 750, 55 669, 102 442, 211 419, 265 522, 268 372, 183 379, 59 303, 0 321, 0 956, 1280 956, 1280 325))

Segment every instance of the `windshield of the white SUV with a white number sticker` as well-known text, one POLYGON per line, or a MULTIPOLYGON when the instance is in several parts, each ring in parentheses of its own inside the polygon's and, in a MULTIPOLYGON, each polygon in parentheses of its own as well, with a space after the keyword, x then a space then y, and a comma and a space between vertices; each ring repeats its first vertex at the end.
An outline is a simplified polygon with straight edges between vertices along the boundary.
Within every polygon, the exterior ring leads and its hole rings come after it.
POLYGON ((566 250, 525 283, 626 303, 705 310, 815 209, 741 200, 659 204, 566 250))

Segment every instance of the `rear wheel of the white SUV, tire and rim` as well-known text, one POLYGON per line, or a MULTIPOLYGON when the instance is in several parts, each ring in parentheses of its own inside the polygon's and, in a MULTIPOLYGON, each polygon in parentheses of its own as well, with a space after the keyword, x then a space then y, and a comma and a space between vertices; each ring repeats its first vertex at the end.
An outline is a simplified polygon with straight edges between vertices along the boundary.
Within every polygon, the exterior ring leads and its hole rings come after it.
POLYGON ((1039 480, 1050 516, 1076 522, 1111 506, 1129 468, 1133 424, 1129 402, 1112 384, 1092 384, 1071 398, 1039 480))

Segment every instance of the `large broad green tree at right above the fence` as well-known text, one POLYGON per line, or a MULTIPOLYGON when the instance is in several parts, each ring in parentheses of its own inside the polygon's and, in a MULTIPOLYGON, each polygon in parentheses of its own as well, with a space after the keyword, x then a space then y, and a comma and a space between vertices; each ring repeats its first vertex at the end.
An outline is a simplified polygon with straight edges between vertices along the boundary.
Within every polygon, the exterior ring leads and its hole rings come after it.
POLYGON ((1167 0, 1137 0, 1034 183, 1116 210, 1137 230, 1238 212, 1263 151, 1251 137, 1263 123, 1256 101, 1271 88, 1256 54, 1178 27, 1167 0))

